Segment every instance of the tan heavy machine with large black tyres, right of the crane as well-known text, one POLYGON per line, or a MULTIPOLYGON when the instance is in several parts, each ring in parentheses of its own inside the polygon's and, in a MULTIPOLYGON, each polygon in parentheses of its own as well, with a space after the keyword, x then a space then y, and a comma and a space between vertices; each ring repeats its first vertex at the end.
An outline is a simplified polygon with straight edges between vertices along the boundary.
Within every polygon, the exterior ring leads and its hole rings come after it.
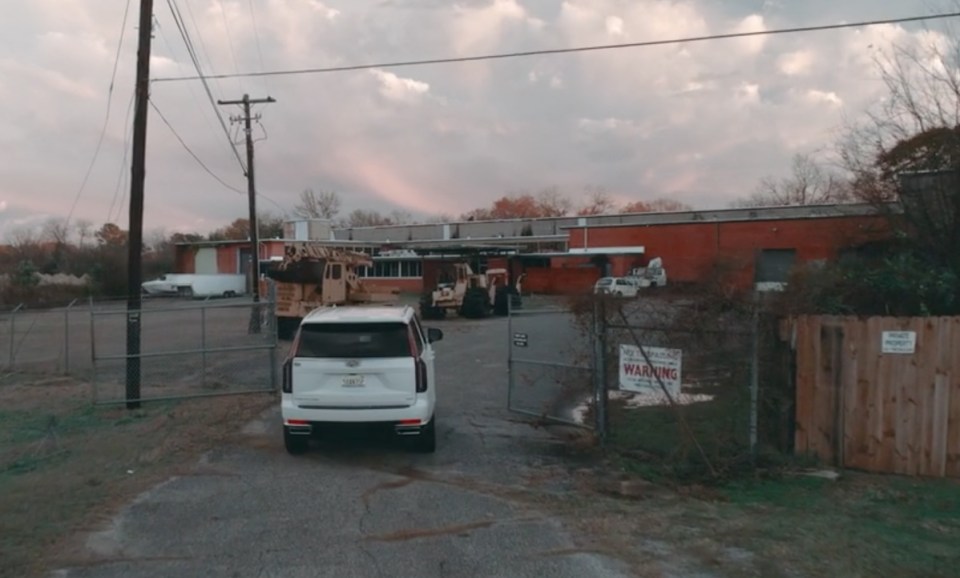
POLYGON ((427 289, 420 297, 423 319, 443 319, 448 311, 461 317, 480 319, 494 313, 506 315, 509 308, 521 306, 522 275, 510 285, 506 269, 488 269, 474 273, 464 262, 445 263, 437 276, 435 289, 427 289))

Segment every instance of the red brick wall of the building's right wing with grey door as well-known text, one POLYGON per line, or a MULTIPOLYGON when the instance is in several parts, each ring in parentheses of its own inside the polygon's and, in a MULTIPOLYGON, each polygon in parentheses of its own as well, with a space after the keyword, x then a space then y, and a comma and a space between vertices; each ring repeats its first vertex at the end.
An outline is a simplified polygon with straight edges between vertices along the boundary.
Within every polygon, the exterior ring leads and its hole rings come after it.
MULTIPOLYGON (((825 259, 843 247, 877 239, 887 231, 882 217, 833 217, 733 223, 684 223, 637 227, 591 227, 590 247, 643 246, 647 259, 662 257, 673 281, 703 279, 718 264, 738 272, 737 283, 753 282, 759 249, 795 249, 800 262, 825 259)), ((582 247, 582 228, 570 230, 570 246, 582 247)), ((611 262, 616 263, 614 257, 611 262)), ((621 274, 614 265, 614 274, 621 274)))

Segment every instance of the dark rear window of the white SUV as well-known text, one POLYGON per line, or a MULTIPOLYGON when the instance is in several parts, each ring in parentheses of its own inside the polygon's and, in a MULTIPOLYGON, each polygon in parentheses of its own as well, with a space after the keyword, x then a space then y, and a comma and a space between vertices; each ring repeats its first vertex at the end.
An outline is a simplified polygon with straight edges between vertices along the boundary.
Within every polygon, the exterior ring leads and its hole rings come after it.
POLYGON ((409 357, 404 323, 314 323, 300 328, 296 357, 409 357))

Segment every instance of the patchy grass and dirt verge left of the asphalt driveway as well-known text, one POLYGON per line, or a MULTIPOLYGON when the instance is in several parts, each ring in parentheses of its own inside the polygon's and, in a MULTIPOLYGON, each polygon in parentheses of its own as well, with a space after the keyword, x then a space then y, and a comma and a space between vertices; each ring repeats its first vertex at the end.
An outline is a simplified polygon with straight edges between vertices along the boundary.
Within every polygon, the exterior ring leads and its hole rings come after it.
POLYGON ((0 388, 0 577, 46 574, 54 551, 193 463, 270 396, 92 406, 78 384, 0 388))

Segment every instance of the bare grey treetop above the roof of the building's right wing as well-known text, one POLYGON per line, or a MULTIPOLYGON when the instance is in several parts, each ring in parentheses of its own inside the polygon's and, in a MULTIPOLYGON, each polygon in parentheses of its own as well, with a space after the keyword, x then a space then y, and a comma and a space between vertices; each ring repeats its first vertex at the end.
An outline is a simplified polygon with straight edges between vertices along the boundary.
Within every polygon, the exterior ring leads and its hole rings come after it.
POLYGON ((809 155, 793 157, 790 176, 765 177, 749 197, 735 201, 735 207, 826 205, 851 201, 850 182, 823 168, 809 155))

